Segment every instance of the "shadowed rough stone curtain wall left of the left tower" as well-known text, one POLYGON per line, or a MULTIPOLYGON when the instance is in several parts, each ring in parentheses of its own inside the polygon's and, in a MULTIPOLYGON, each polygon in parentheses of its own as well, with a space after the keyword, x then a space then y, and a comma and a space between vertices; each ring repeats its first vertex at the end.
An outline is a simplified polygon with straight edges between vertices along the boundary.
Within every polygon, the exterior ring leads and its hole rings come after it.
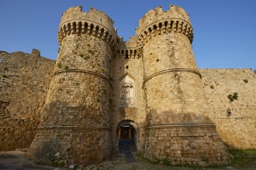
POLYGON ((28 148, 40 123, 54 61, 33 50, 0 52, 0 151, 28 148))

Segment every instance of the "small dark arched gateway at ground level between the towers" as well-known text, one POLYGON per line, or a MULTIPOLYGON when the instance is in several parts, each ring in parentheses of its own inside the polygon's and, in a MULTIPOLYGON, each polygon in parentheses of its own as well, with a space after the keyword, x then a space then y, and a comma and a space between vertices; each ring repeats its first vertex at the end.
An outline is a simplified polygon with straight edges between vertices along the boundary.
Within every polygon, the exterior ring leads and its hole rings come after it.
POLYGON ((122 150, 123 142, 126 142, 134 150, 140 150, 140 135, 137 123, 131 120, 123 120, 116 127, 116 151, 122 150))

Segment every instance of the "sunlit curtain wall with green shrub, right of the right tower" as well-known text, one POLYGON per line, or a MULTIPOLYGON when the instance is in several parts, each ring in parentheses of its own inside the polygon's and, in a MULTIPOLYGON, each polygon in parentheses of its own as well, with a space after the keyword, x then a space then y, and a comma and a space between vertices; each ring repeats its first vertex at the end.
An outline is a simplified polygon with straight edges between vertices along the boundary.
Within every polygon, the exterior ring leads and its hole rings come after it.
POLYGON ((220 138, 230 148, 256 148, 256 76, 251 69, 200 69, 208 104, 220 138), (230 101, 228 95, 238 94, 230 101), (227 113, 230 109, 231 113, 227 113))

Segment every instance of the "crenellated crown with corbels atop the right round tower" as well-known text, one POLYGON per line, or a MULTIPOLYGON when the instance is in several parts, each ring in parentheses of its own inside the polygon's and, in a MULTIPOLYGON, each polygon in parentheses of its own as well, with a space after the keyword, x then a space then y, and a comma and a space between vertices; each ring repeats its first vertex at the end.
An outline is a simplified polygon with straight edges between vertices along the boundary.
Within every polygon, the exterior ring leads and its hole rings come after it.
POLYGON ((192 43, 193 30, 189 14, 183 8, 170 5, 169 11, 164 12, 161 7, 157 7, 147 12, 136 29, 137 46, 140 48, 152 37, 168 32, 182 33, 192 43))

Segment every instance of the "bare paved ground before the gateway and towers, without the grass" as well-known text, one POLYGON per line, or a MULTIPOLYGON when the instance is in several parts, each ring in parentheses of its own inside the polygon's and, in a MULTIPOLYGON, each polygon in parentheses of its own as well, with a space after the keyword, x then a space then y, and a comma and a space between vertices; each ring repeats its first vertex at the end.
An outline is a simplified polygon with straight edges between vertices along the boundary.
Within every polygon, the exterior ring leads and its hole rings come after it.
MULTIPOLYGON (((124 144, 126 145, 126 144, 124 144)), ((87 167, 79 166, 77 170, 240 170, 240 169, 250 169, 255 168, 233 168, 233 167, 223 167, 223 168, 186 168, 186 167, 170 167, 166 165, 157 165, 149 162, 147 159, 142 158, 140 155, 136 155, 136 152, 130 151, 130 148, 123 148, 123 151, 117 155, 114 155, 111 161, 102 162, 99 165, 89 165, 87 167), (126 153, 129 153, 127 156, 126 153), (130 160, 131 159, 131 160, 130 160)), ((22 151, 2 151, 0 152, 0 169, 5 170, 61 170, 64 168, 54 168, 42 165, 35 165, 33 162, 25 157, 25 153, 22 151)))

